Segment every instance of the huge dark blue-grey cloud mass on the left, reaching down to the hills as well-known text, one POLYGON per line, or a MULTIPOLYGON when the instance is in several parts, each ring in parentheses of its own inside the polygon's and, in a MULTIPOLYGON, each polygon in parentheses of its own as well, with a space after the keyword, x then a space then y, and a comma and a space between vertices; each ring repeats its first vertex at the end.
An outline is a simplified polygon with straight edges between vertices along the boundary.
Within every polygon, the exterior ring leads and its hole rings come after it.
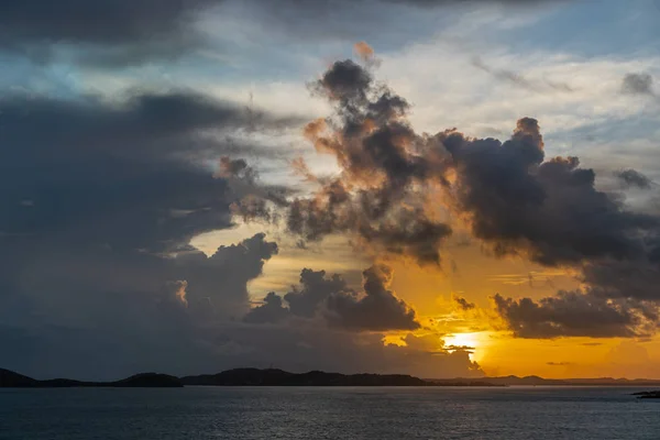
POLYGON ((0 99, 4 366, 107 377, 209 359, 198 323, 243 316, 277 253, 263 234, 211 256, 188 245, 232 226, 239 197, 200 163, 223 146, 199 133, 246 122, 189 94, 0 99))

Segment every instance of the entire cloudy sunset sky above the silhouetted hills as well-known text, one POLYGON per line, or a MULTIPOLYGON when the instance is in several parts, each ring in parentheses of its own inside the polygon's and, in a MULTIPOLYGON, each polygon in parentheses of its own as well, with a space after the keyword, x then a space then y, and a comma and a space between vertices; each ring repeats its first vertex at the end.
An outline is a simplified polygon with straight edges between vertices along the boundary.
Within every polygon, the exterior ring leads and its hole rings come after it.
POLYGON ((0 3, 0 366, 660 378, 657 0, 0 3))

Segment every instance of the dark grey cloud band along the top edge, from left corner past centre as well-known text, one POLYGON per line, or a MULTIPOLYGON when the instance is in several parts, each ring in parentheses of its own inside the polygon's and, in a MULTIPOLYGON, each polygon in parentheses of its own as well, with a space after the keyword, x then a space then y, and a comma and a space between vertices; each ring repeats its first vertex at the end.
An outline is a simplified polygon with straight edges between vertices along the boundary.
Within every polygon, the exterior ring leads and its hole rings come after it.
MULTIPOLYGON (((479 3, 531 3, 488 1, 479 3)), ((462 1, 366 0, 24 0, 0 2, 0 50, 42 62, 56 59, 63 46, 74 59, 102 67, 142 64, 190 53, 208 43, 198 22, 218 7, 246 8, 251 19, 280 25, 286 32, 321 37, 360 34, 364 23, 392 20, 389 9, 444 7, 462 1), (378 13, 374 14, 374 11, 378 13), (323 19, 331 14, 332 20, 323 19)), ((228 12, 229 11, 229 12, 228 12)), ((239 18, 240 19, 240 18, 239 18)))

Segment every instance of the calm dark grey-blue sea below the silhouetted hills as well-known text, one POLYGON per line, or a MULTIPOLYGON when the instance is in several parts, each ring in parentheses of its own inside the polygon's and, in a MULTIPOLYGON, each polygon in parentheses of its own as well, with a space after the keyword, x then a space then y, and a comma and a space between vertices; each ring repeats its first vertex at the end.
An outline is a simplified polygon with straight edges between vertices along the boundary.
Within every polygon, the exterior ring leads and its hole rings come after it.
POLYGON ((632 388, 0 389, 0 439, 660 439, 632 388))

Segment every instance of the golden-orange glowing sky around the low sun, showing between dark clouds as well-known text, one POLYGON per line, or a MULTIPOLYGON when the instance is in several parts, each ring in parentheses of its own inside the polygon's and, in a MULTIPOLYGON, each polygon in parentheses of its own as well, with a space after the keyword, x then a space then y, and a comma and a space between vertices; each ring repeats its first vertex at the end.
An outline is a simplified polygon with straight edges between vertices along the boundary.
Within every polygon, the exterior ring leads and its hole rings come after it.
MULTIPOLYGON (((240 224, 196 238, 193 243, 211 253, 218 245, 231 244, 237 238, 251 237, 263 224, 240 224)), ((271 231, 271 233, 275 233, 271 231)), ((652 367, 660 360, 660 341, 634 339, 520 339, 497 328, 490 315, 490 297, 495 293, 512 297, 539 298, 557 289, 579 286, 573 274, 548 270, 522 258, 493 258, 477 246, 448 246, 442 267, 419 267, 406 261, 388 261, 394 267, 393 289, 408 301, 427 329, 439 334, 444 349, 471 348, 470 359, 488 376, 538 375, 548 378, 628 377, 658 378, 652 367), (447 262, 457 261, 458 271, 447 262), (449 266, 449 267, 448 267, 449 266), (457 310, 452 296, 462 296, 476 305, 475 310, 457 310)), ((328 273, 360 272, 370 264, 358 257, 345 239, 327 239, 322 250, 310 255, 293 244, 283 243, 277 258, 267 262, 263 276, 250 283, 255 300, 265 293, 284 293, 295 285, 302 267, 328 273)), ((384 338, 384 344, 405 345, 400 334, 384 338)), ((448 350, 451 352, 452 350, 448 350)))

